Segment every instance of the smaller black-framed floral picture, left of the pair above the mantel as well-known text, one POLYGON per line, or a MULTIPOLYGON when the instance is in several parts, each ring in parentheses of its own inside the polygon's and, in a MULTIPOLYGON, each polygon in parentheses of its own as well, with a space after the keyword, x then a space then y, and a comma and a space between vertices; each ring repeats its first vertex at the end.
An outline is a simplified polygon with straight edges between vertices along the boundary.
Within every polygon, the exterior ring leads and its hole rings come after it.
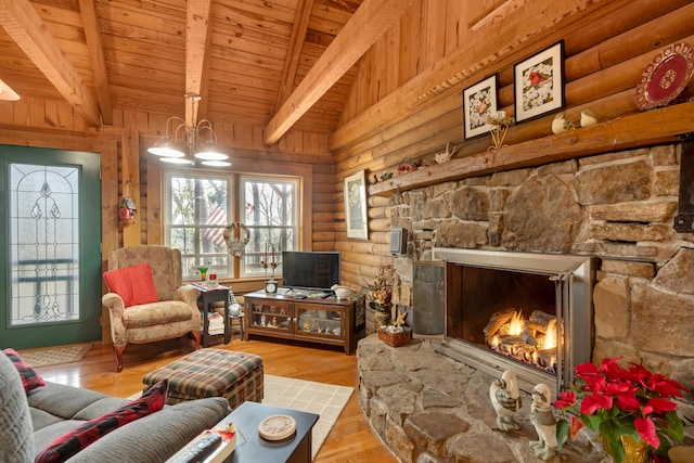
POLYGON ((487 119, 498 111, 499 76, 494 74, 463 90, 465 139, 489 132, 487 119))

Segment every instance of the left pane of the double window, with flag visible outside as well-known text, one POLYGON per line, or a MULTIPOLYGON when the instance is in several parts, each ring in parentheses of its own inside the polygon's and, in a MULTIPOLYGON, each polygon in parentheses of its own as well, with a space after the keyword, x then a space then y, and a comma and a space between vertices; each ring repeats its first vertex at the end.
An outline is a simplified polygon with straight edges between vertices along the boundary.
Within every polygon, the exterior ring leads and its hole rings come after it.
POLYGON ((166 243, 180 249, 183 278, 195 278, 198 267, 209 273, 233 276, 231 256, 224 243, 232 176, 201 177, 170 172, 166 176, 166 243))

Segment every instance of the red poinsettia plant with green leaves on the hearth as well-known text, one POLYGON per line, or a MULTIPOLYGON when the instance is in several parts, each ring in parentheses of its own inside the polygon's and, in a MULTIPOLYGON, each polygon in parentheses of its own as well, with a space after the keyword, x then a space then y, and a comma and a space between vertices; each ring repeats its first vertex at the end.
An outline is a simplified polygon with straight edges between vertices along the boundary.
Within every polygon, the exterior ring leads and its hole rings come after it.
POLYGON ((616 463, 625 459, 621 436, 644 441, 658 455, 667 454, 672 441, 682 443, 684 425, 674 411, 673 397, 686 388, 674 380, 652 373, 645 366, 631 363, 629 369, 617 364, 621 357, 604 359, 602 364, 586 362, 575 368, 570 390, 560 393, 554 407, 573 411, 570 422, 557 422, 557 441, 576 437, 583 427, 599 433, 607 442, 616 463))

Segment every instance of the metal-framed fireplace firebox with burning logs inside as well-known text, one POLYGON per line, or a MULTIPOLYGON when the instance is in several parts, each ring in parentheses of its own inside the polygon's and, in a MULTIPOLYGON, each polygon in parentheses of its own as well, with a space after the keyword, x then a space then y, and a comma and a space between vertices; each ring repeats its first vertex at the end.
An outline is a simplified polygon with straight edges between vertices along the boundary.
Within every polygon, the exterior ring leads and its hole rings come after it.
POLYGON ((593 259, 434 248, 446 261, 446 332, 434 348, 529 391, 567 387, 592 351, 593 259))

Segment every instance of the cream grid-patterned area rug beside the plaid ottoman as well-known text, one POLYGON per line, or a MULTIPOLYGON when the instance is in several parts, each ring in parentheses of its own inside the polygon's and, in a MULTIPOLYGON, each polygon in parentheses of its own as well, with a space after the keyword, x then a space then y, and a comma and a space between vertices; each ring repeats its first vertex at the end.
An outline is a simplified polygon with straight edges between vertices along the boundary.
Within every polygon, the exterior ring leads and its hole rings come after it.
MULTIPOLYGON (((314 460, 354 391, 354 387, 266 373, 262 403, 320 415, 311 435, 311 458, 314 460)), ((128 399, 137 399, 140 395, 141 393, 136 393, 128 399)))

